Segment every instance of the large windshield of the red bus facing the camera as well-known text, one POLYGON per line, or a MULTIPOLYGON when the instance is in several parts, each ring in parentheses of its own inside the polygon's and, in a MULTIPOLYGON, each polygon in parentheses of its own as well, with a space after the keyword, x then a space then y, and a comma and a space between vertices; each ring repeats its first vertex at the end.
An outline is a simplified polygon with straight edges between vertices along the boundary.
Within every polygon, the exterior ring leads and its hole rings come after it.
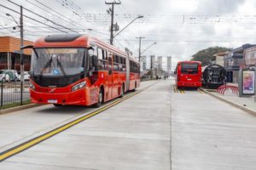
POLYGON ((70 76, 84 71, 85 48, 35 48, 32 75, 70 76))

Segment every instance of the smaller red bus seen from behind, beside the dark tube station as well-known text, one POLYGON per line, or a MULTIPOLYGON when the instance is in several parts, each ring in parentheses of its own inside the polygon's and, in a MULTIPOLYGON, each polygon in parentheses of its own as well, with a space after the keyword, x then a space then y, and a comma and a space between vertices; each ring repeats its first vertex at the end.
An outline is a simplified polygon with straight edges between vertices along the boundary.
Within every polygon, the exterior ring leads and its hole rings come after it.
POLYGON ((177 63, 177 88, 201 88, 201 62, 180 61, 177 63))

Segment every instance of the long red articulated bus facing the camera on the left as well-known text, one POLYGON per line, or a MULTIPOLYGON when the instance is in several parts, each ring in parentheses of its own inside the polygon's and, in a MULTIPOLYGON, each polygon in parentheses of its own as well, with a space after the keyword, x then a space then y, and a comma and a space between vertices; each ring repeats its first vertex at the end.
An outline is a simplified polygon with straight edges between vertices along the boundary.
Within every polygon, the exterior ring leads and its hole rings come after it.
POLYGON ((52 35, 23 48, 33 49, 32 103, 99 107, 140 85, 139 63, 94 37, 52 35))

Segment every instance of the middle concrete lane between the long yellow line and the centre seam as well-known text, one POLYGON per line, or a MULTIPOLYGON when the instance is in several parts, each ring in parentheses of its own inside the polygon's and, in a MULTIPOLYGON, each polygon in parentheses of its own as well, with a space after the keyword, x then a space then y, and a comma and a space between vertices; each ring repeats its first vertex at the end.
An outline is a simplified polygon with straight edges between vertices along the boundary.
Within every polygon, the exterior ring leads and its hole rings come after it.
POLYGON ((170 169, 170 111, 171 82, 159 81, 119 105, 9 157, 0 167, 170 169))

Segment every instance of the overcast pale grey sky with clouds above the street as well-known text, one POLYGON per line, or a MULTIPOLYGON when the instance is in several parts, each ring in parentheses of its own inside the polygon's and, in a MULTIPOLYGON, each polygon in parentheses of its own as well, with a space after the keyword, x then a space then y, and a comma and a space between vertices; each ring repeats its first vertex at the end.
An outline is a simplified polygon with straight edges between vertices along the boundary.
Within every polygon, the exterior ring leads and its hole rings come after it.
MULTIPOLYGON (((52 33, 73 31, 92 34, 102 40, 109 40, 110 16, 109 5, 102 0, 12 0, 25 8, 41 14, 55 24, 24 10, 26 16, 39 20, 48 26, 24 18, 25 37, 36 40, 52 33), (41 3, 40 3, 41 2, 41 3), (55 11, 53 11, 52 9, 55 11), (59 14, 58 14, 59 13, 59 14), (59 26, 56 26, 58 24, 59 26), (62 27, 61 27, 61 26, 62 27)), ((112 1, 107 1, 112 2, 112 1)), ((19 7, 8 0, 1 0, 4 6, 19 11, 19 7)), ((114 7, 114 22, 119 29, 126 26, 137 15, 144 16, 128 26, 115 37, 114 45, 118 48, 130 48, 138 54, 138 40, 142 41, 142 50, 154 42, 143 54, 172 56, 172 68, 177 60, 190 59, 197 51, 212 46, 236 48, 243 43, 255 43, 256 25, 255 0, 123 0, 114 7)), ((15 21, 6 16, 12 14, 19 21, 19 14, 0 7, 0 36, 19 37, 19 31, 11 28, 15 21)), ((166 62, 166 59, 163 59, 166 62)), ((165 64, 164 64, 165 66, 165 64)))

